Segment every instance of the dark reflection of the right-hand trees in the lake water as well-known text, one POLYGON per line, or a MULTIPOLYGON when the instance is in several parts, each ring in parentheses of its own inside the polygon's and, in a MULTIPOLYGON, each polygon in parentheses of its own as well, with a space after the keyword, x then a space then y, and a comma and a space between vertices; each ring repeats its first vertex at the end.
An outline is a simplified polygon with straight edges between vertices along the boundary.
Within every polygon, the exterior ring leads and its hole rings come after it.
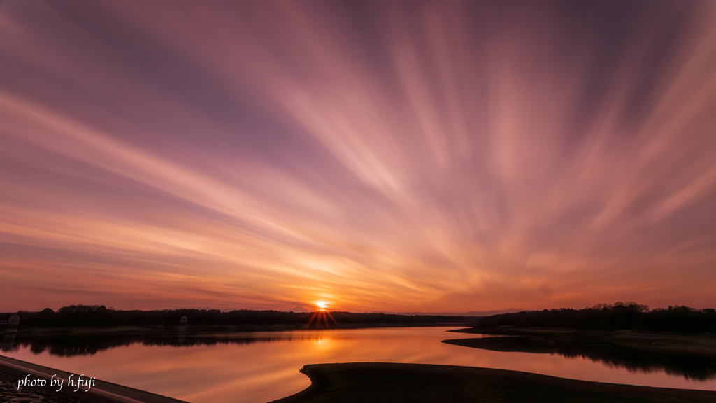
POLYGON ((443 343, 503 352, 559 354, 568 358, 581 357, 628 371, 664 371, 685 379, 716 378, 716 362, 708 356, 673 351, 633 349, 609 341, 580 341, 577 339, 530 336, 502 336, 463 338, 443 343))

